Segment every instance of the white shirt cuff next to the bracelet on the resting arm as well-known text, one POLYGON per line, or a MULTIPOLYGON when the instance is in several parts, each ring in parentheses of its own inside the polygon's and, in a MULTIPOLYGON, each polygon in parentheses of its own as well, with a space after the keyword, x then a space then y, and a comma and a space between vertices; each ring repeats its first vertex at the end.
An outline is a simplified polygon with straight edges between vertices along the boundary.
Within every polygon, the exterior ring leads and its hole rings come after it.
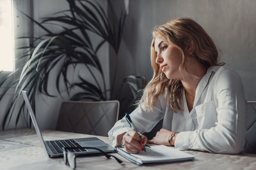
POLYGON ((174 146, 179 149, 189 149, 193 146, 195 137, 196 136, 193 131, 179 132, 175 138, 174 146))

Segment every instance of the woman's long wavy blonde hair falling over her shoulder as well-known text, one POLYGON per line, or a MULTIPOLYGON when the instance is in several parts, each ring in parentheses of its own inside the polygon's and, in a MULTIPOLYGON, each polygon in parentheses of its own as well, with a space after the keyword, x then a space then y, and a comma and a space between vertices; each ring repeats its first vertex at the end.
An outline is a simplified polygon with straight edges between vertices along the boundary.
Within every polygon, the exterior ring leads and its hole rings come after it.
POLYGON ((159 64, 156 63, 155 39, 161 38, 165 43, 175 45, 180 49, 182 53, 180 68, 185 67, 186 56, 188 56, 186 46, 188 45, 192 46, 194 49, 193 57, 205 68, 220 66, 224 63, 218 63, 218 50, 211 37, 199 24, 190 18, 176 18, 159 27, 155 27, 152 36, 151 65, 154 70, 154 75, 145 87, 143 96, 138 104, 145 104, 148 110, 152 110, 157 97, 159 94, 163 93, 166 106, 170 106, 170 108, 177 113, 177 109, 183 109, 180 104, 180 99, 184 87, 180 80, 169 80, 166 78, 159 64))

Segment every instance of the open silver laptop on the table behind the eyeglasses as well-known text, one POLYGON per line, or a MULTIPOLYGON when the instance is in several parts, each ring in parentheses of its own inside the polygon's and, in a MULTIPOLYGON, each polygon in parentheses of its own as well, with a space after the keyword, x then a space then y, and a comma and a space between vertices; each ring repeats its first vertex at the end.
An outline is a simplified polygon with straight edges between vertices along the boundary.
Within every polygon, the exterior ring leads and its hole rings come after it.
MULTIPOLYGON (((29 111, 29 115, 32 119, 33 125, 35 127, 36 134, 38 138, 40 139, 40 142, 42 143, 45 151, 49 155, 49 157, 62 157, 62 148, 63 147, 95 147, 99 148, 100 150, 103 150, 104 152, 114 152, 115 149, 108 145, 107 143, 104 143, 99 138, 77 138, 77 139, 60 139, 60 140, 53 140, 53 141, 44 141, 44 138, 42 137, 41 131, 38 127, 38 124, 36 122, 35 114, 31 108, 31 104, 28 100, 28 95, 26 94, 26 91, 22 91, 22 95, 24 98, 24 101, 26 103, 26 106, 29 111)), ((99 153, 97 150, 93 149, 74 149, 70 150, 71 152, 76 153, 77 155, 94 155, 99 153)))

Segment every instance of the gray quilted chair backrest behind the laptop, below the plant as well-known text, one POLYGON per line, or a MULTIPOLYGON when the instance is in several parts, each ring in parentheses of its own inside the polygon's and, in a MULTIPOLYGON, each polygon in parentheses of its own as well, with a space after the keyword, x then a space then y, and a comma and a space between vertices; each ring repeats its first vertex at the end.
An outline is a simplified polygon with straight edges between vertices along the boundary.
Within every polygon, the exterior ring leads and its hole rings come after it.
POLYGON ((118 112, 118 101, 63 101, 56 130, 108 136, 118 112))

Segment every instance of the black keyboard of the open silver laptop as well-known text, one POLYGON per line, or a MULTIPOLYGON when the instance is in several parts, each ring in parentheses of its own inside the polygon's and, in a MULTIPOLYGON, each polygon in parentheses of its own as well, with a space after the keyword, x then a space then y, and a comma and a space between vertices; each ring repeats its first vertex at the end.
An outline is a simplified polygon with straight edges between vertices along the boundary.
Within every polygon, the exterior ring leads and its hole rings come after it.
MULTIPOLYGON (((49 148, 52 150, 52 153, 62 153, 63 147, 82 147, 79 145, 74 139, 65 139, 65 140, 57 140, 57 141, 45 141, 49 148)), ((87 152, 86 149, 74 149, 69 150, 70 152, 87 152)))

